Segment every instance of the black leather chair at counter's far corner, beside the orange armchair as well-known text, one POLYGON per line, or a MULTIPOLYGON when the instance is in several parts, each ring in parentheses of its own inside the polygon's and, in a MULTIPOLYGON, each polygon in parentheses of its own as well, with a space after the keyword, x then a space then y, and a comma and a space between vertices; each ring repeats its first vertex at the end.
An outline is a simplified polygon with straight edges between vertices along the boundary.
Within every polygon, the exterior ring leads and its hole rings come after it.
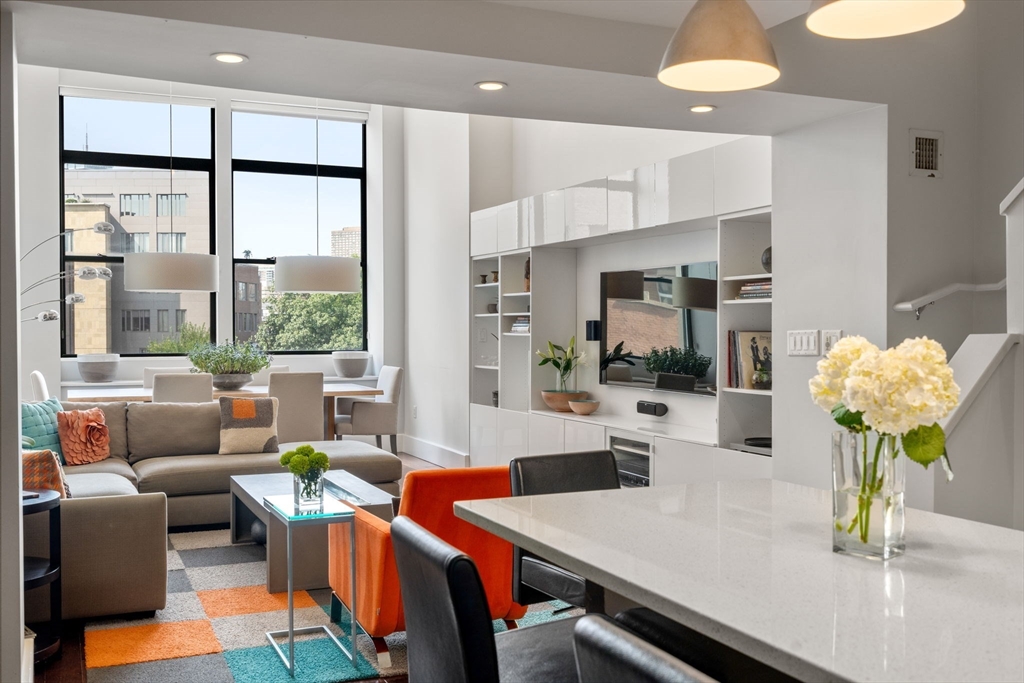
MULTIPOLYGON (((610 451, 559 453, 516 458, 509 463, 513 496, 567 494, 618 488, 610 451)), ((512 599, 531 605, 557 598, 587 611, 603 611, 604 591, 583 577, 522 550, 512 550, 512 599)))

